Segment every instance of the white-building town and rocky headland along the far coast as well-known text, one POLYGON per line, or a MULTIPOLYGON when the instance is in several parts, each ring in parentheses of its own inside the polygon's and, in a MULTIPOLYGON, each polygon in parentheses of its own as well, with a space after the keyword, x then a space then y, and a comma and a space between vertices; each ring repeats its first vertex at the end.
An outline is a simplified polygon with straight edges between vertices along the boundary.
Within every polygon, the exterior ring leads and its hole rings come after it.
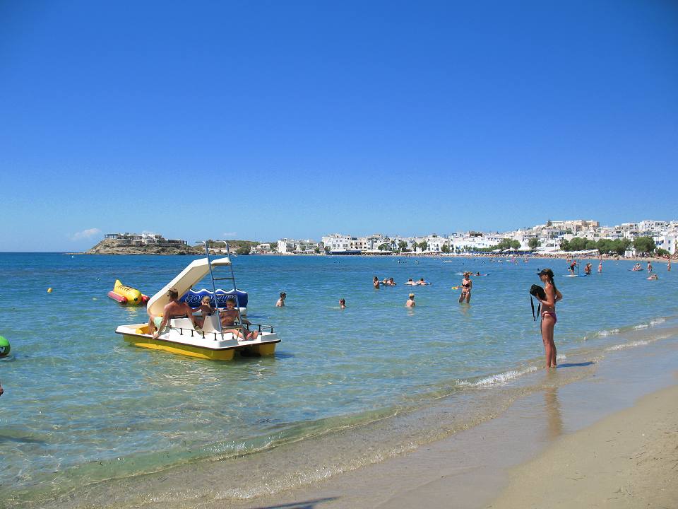
MULTIPOLYGON (((423 236, 333 233, 320 242, 281 238, 277 242, 231 240, 234 254, 333 254, 333 255, 468 255, 468 254, 568 254, 637 257, 677 254, 678 221, 639 221, 600 226, 584 219, 547 221, 532 228, 499 232, 468 231, 451 235, 423 236)), ((204 247, 186 240, 165 239, 157 233, 107 233, 86 254, 202 254, 204 247)), ((211 241, 210 252, 225 254, 224 241, 211 241)))

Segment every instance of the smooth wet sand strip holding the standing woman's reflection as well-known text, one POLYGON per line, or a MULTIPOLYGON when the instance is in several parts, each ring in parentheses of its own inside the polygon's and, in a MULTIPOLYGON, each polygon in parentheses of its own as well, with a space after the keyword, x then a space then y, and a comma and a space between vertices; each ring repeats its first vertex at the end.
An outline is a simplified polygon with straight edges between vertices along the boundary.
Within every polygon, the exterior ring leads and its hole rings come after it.
MULTIPOLYGON (((610 422, 619 422, 627 412, 642 416, 648 409, 636 404, 641 398, 653 399, 667 391, 666 394, 670 394, 668 401, 674 404, 659 404, 652 408, 665 408, 674 417, 678 414, 675 405, 678 398, 672 399, 678 394, 678 373, 673 371, 678 361, 677 340, 674 332, 668 344, 658 341, 641 348, 611 351, 609 357, 596 366, 595 372, 583 380, 528 394, 514 401, 496 418, 448 438, 275 496, 240 503, 232 501, 230 507, 255 509, 286 504, 305 507, 304 504, 315 502, 317 505, 312 506, 318 509, 405 509, 415 505, 442 508, 448 507, 451 500, 459 509, 522 509, 545 506, 540 503, 553 504, 555 501, 547 494, 538 499, 541 502, 530 499, 533 505, 523 503, 520 498, 526 489, 527 481, 523 477, 536 485, 538 469, 546 461, 544 457, 571 450, 573 441, 586 436, 596 426, 605 428, 610 422), (638 362, 639 359, 642 362, 638 362), (641 410, 636 410, 636 406, 641 410), (514 500, 517 501, 514 503, 514 500)), ((561 366, 576 369, 580 364, 561 363, 561 366)), ((666 401, 667 397, 662 396, 662 402, 666 401)), ((642 401, 638 404, 642 405, 642 401)), ((654 422, 662 417, 663 414, 650 411, 646 421, 654 422)), ((628 426, 622 426, 621 432, 628 435, 628 426)), ((653 440, 662 438, 655 436, 653 440)), ((675 435, 674 442, 678 447, 675 435)), ((571 461, 584 462, 586 453, 578 448, 571 461)), ((560 473, 553 475, 552 483, 558 489, 566 490, 568 483, 576 484, 562 476, 557 477, 560 473)), ((577 486, 569 488, 576 491, 577 486)), ((588 496, 593 495, 588 492, 588 496)), ((201 502, 201 508, 219 507, 214 502, 201 502)), ((579 505, 563 507, 590 507, 592 502, 580 501, 579 505)))

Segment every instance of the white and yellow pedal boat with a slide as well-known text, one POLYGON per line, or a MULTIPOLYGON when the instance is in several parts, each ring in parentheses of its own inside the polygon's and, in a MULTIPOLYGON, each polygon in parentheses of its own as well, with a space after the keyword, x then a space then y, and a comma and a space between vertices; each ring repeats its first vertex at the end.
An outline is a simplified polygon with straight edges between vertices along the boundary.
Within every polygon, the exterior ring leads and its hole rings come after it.
MULTIPOLYGON (((167 292, 170 288, 176 288, 179 295, 182 296, 207 274, 211 274, 212 270, 210 269, 227 267, 230 264, 230 259, 227 257, 213 260, 208 258, 194 260, 177 277, 148 300, 149 314, 162 316, 165 305, 169 303, 167 292)), ((231 361, 236 354, 243 356, 273 355, 275 346, 280 343, 278 334, 273 332, 273 326, 251 324, 249 327, 251 331, 258 330, 258 337, 251 341, 242 339, 238 341, 237 335, 233 332, 222 332, 218 313, 215 312, 214 315, 205 317, 202 329, 195 329, 189 317, 172 318, 169 320, 168 327, 160 331, 157 339, 153 338, 154 331, 149 330, 148 323, 120 325, 115 332, 121 334, 124 341, 134 346, 213 361, 231 361)), ((237 322, 234 327, 228 327, 228 329, 238 328, 237 322)))

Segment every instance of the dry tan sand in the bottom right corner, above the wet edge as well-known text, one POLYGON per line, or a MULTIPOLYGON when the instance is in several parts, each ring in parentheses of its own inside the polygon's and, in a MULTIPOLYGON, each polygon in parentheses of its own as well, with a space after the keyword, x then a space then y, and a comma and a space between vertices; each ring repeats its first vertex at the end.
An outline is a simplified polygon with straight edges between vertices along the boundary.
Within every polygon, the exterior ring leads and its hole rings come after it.
POLYGON ((678 386, 557 440, 488 507, 677 508, 678 386))

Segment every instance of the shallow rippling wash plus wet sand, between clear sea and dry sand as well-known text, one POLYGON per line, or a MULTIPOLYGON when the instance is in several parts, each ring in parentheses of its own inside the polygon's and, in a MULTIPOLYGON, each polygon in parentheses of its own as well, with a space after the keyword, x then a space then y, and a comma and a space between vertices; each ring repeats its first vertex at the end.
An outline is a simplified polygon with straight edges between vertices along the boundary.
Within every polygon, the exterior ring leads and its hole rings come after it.
MULTIPOLYGON (((558 370, 527 370, 505 382, 491 381, 489 386, 487 380, 479 380, 472 384, 478 385, 475 390, 470 387, 463 392, 465 399, 443 397, 433 404, 434 409, 422 407, 402 416, 387 416, 358 429, 347 428, 347 434, 340 431, 282 443, 262 454, 252 451, 155 473, 102 479, 104 482, 88 484, 70 496, 40 497, 40 507, 220 509, 226 505, 254 509, 281 501, 294 507, 309 500, 322 501, 318 509, 372 508, 382 503, 383 508, 409 508, 420 500, 429 501, 432 507, 446 507, 444 501, 451 496, 458 500, 458 492, 465 494, 456 507, 485 507, 482 504, 489 503, 506 484, 509 468, 530 460, 558 435, 593 423, 633 404, 634 397, 668 385, 673 379, 667 373, 678 365, 676 321, 660 318, 659 327, 652 323, 631 327, 617 335, 614 342, 618 345, 604 351, 568 352, 558 370), (638 363, 638 358, 643 358, 643 363, 638 363), (647 383, 628 385, 627 378, 647 383), (601 390, 601 385, 607 388, 601 390), (506 391, 513 396, 504 405, 506 391), (465 415, 463 406, 481 394, 499 404, 494 412, 480 421, 457 421, 460 411, 465 415), (576 403, 581 397, 578 394, 586 394, 586 400, 578 402, 585 408, 568 409, 573 398, 576 403), (569 415, 572 412, 576 419, 569 415), (448 431, 436 437, 431 433, 433 428, 429 429, 432 419, 447 421, 442 426, 448 431), (400 428, 403 421, 410 428, 413 441, 409 447, 389 435, 398 421, 400 428), (423 441, 417 436, 422 433, 426 435, 423 441), (354 457, 345 463, 347 457, 325 454, 328 444, 335 450, 332 446, 347 438, 364 444, 366 453, 377 452, 376 459, 354 457), (186 483, 186 479, 191 481, 186 483), (114 505, 109 502, 111 493, 117 493, 114 505)), ((10 506, 35 507, 28 501, 16 503, 10 506)))

